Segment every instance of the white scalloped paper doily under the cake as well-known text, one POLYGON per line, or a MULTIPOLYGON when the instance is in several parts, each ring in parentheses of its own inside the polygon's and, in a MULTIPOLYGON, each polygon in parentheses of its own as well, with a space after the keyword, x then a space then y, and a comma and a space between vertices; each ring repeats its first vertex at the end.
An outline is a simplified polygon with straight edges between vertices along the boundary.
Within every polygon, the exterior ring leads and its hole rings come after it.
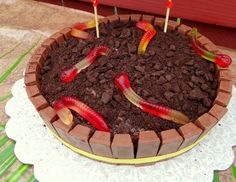
POLYGON ((12 88, 6 105, 10 116, 7 135, 16 141, 15 154, 23 163, 34 165, 39 181, 194 181, 211 182, 213 170, 228 168, 236 145, 236 89, 228 113, 198 146, 176 158, 152 166, 116 166, 93 161, 71 151, 45 127, 27 97, 23 79, 12 88))

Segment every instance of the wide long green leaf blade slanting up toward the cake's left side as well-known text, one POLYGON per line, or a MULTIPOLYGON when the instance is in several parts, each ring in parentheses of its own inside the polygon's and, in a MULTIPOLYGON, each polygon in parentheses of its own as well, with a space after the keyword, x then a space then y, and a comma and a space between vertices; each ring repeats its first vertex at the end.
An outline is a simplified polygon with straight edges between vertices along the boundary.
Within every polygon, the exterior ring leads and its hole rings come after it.
POLYGON ((10 74, 11 72, 24 60, 24 58, 32 51, 32 49, 39 43, 41 36, 31 45, 31 47, 22 54, 14 64, 12 64, 6 71, 0 76, 0 83, 2 83, 10 74))

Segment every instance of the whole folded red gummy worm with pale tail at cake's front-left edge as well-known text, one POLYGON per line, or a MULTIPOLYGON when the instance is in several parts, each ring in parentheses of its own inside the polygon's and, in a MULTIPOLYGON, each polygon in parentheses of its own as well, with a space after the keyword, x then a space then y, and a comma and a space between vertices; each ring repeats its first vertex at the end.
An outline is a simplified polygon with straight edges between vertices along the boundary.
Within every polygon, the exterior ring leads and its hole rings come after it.
POLYGON ((61 121, 67 125, 73 122, 73 116, 69 110, 72 109, 86 119, 96 129, 100 131, 110 131, 102 116, 76 98, 69 96, 62 97, 61 100, 55 101, 53 106, 61 121))

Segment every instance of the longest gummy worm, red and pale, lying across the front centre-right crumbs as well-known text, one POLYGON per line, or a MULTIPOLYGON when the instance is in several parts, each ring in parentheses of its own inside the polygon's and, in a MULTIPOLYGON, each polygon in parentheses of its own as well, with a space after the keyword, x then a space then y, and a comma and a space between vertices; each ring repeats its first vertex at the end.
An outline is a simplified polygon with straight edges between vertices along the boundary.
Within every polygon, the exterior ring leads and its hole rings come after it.
POLYGON ((116 76, 115 84, 132 104, 139 107, 143 111, 178 124, 186 124, 190 122, 189 118, 183 113, 146 101, 137 95, 131 88, 128 75, 125 73, 120 73, 116 76))

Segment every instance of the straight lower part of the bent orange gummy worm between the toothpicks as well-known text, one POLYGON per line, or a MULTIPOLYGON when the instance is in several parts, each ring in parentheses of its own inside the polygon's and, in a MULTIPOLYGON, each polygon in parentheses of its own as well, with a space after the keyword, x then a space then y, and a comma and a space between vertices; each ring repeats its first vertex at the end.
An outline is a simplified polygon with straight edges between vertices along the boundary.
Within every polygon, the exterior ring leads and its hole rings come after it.
POLYGON ((142 37, 139 46, 138 54, 144 54, 151 39, 155 36, 156 30, 148 30, 142 37))

